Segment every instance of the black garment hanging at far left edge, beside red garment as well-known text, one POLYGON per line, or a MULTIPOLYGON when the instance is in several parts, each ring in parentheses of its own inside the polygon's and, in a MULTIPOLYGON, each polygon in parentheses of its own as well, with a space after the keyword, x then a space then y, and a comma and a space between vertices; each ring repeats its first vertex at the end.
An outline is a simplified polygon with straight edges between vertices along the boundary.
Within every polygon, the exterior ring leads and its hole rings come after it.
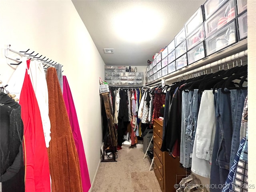
POLYGON ((2 192, 25 192, 20 105, 0 93, 0 182, 2 192))

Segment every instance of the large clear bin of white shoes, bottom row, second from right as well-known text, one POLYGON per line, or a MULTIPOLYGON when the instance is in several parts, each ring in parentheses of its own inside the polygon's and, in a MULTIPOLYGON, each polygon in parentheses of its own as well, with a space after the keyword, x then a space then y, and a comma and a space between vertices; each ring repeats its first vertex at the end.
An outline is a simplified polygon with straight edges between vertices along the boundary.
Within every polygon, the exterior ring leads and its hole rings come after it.
POLYGON ((236 40, 236 24, 235 21, 219 30, 216 34, 205 40, 206 55, 213 54, 227 46, 234 44, 236 40))

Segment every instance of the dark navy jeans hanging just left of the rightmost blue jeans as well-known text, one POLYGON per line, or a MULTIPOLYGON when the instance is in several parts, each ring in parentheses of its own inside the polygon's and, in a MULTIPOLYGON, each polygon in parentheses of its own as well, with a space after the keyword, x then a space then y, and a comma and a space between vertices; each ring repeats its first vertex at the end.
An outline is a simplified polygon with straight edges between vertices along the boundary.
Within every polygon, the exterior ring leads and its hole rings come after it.
MULTIPOLYGON (((229 173, 232 117, 230 94, 224 94, 221 89, 215 93, 216 133, 212 154, 210 184, 224 184, 229 173)), ((212 188, 211 192, 220 192, 220 188, 212 188)))

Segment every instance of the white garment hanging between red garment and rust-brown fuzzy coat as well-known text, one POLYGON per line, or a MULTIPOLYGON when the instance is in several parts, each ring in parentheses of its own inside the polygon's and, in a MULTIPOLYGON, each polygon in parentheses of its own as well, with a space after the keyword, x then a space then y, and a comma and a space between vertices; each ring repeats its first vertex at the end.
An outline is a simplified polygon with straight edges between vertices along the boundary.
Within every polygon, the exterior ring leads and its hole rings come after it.
POLYGON ((36 60, 30 61, 30 80, 36 94, 36 100, 38 102, 42 125, 44 130, 44 139, 46 147, 49 147, 49 142, 51 140, 50 136, 50 118, 49 118, 49 102, 48 102, 48 87, 45 78, 45 72, 43 64, 36 60))

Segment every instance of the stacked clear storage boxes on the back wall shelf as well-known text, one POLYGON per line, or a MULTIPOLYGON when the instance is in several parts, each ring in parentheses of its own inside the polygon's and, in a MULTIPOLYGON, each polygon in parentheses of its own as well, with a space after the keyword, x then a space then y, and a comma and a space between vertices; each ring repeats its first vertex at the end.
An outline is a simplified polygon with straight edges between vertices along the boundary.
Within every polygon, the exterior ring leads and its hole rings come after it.
POLYGON ((126 66, 105 65, 105 81, 110 85, 142 85, 143 72, 126 72, 126 66))

